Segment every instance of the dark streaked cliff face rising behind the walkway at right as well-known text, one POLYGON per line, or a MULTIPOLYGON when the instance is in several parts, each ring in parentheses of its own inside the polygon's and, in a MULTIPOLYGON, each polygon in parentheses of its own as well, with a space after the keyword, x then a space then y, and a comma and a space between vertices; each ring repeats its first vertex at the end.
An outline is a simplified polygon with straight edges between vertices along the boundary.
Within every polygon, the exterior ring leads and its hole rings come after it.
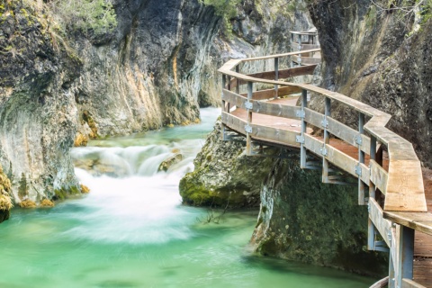
MULTIPOLYGON (((345 0, 311 5, 323 55, 320 85, 392 114, 388 127, 410 140, 430 167, 430 8, 406 14, 397 9, 402 5, 345 0)), ((335 110, 335 117, 356 121, 350 114, 335 110)))

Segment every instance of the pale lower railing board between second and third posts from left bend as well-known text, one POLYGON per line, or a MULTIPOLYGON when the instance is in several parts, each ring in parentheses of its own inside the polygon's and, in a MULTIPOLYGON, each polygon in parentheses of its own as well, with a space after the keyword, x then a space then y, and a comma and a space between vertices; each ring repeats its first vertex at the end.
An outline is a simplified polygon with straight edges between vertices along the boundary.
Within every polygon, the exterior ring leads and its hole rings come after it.
POLYGON ((281 130, 273 127, 266 127, 257 124, 252 124, 251 136, 254 139, 265 139, 266 141, 276 142, 288 146, 299 147, 299 143, 295 141, 295 137, 300 135, 300 132, 281 130))

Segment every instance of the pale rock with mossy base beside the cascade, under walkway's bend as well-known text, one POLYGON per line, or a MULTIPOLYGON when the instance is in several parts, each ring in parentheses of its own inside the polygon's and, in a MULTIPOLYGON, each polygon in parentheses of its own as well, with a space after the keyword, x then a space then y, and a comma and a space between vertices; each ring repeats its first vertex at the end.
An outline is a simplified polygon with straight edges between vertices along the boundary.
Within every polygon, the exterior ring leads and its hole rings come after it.
POLYGON ((217 121, 193 160, 193 172, 180 181, 183 202, 195 206, 257 207, 261 184, 273 159, 247 157, 244 142, 224 142, 220 133, 217 121))

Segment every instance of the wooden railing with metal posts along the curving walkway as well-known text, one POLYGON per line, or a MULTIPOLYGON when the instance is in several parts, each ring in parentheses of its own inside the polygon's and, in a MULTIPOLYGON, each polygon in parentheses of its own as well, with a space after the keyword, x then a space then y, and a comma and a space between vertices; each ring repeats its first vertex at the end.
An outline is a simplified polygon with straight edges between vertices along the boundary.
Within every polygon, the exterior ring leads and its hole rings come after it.
POLYGON ((424 220, 422 231, 432 235, 432 222, 426 222, 432 215, 426 213, 427 204, 419 159, 408 140, 385 127, 391 115, 343 94, 310 84, 295 84, 280 80, 292 76, 311 75, 316 67, 310 65, 279 70, 280 58, 296 58, 299 54, 311 55, 319 51, 320 49, 309 49, 274 56, 231 59, 220 67, 223 83, 221 112, 223 130, 234 130, 246 136, 247 155, 252 154, 252 140, 256 140, 300 148, 302 168, 313 168, 307 161, 307 154, 322 158, 324 183, 338 183, 329 175, 329 165, 337 166, 340 170, 358 178, 358 203, 367 204, 369 209, 368 248, 390 251, 389 285, 421 287, 419 284, 412 284, 410 280, 412 279, 413 229, 417 229, 419 221, 424 220), (275 70, 273 71, 249 75, 240 73, 242 63, 269 61, 269 59, 274 59, 275 70), (246 89, 241 88, 242 85, 246 85, 246 89), (254 85, 256 87, 267 85, 267 88, 271 85, 272 88, 254 90, 254 85), (241 93, 240 88, 246 93, 241 93), (269 101, 289 94, 300 94, 301 105, 292 106, 269 101), (308 108, 310 94, 324 98, 324 113, 308 108), (332 118, 332 103, 338 103, 357 112, 358 129, 332 118), (247 112, 246 119, 232 113, 237 109, 247 112), (301 130, 279 129, 253 122, 254 113, 299 120, 301 130), (310 126, 323 130, 323 137, 314 137, 308 133, 310 126), (358 148, 358 157, 350 157, 331 146, 330 135, 358 148), (383 148, 388 151, 388 169, 383 167, 383 148), (365 164, 366 157, 369 158, 368 165, 365 164), (381 193, 385 196, 383 208, 375 200, 381 193), (384 215, 390 220, 384 219, 384 215), (383 241, 375 240, 375 230, 381 234, 383 241), (406 280, 402 280, 404 278, 406 280))

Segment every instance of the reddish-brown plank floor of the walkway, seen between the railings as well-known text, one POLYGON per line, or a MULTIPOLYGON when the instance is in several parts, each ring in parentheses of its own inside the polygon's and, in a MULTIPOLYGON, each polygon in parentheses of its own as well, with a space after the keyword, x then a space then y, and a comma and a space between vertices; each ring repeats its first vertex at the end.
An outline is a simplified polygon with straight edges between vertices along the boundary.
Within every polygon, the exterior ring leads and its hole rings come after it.
MULTIPOLYGON (((299 97, 287 97, 268 101, 270 103, 281 103, 285 105, 295 106, 299 97)), ((236 109, 231 114, 247 120, 247 111, 244 109, 236 109)), ((280 130, 295 130, 301 131, 301 121, 295 119, 287 119, 282 117, 269 116, 265 114, 255 113, 252 118, 252 123, 273 127, 280 130)), ((308 133, 311 133, 311 128, 308 128, 308 133)), ((322 139, 321 136, 316 138, 322 139)), ((331 146, 338 148, 350 157, 358 158, 358 148, 348 144, 340 139, 330 139, 331 146)), ((365 157, 365 164, 368 165, 369 157, 365 157)), ((388 157, 386 153, 383 155, 383 168, 388 170, 388 157)), ((432 170, 423 168, 423 179, 425 185, 425 193, 428 203, 428 211, 432 213, 432 170)), ((416 231, 415 246, 414 246, 414 277, 413 279, 419 284, 426 287, 432 287, 432 237, 427 234, 416 231)))

